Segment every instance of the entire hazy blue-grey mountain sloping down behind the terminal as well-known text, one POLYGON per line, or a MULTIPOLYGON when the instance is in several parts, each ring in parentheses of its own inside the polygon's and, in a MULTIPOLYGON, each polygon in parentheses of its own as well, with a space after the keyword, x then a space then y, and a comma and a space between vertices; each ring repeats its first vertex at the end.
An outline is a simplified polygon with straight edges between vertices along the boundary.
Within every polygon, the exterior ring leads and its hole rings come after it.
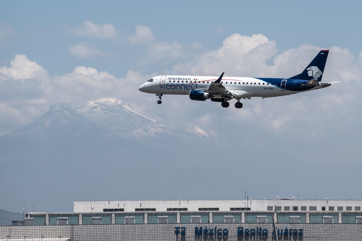
POLYGON ((56 104, 0 138, 1 208, 72 211, 75 198, 243 199, 245 190, 251 198, 359 197, 343 187, 359 188, 361 165, 322 167, 225 134, 219 142, 116 99, 56 104))

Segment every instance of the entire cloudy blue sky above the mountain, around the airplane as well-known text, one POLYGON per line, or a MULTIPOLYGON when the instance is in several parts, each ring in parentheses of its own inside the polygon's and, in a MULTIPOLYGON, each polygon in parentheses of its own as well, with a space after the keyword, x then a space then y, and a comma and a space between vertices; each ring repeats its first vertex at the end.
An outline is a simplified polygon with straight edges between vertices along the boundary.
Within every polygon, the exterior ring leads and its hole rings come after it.
POLYGON ((277 136, 309 162, 361 163, 355 151, 361 7, 360 1, 1 1, 0 136, 52 104, 77 107, 109 97, 192 122, 215 139, 235 130, 244 137, 246 125, 254 133, 244 138, 248 145, 277 136), (331 50, 323 80, 341 84, 245 100, 240 110, 188 96, 165 96, 157 105, 155 96, 138 91, 158 74, 290 77, 321 49, 331 50), (327 148, 306 153, 303 145, 327 148), (348 162, 341 162, 346 153, 348 162))

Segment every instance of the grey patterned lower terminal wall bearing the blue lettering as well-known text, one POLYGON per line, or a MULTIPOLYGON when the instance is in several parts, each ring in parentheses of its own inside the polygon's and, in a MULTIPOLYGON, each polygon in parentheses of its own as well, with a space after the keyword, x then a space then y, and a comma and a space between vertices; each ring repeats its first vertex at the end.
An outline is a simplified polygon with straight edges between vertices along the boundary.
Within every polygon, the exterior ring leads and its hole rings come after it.
MULTIPOLYGON (((281 240, 362 240, 361 224, 277 224, 277 230, 281 234, 279 235, 281 240)), ((271 233, 272 226, 269 223, 0 226, 0 239, 61 237, 71 238, 74 241, 268 241, 272 240, 271 233), (197 234, 195 234, 195 228, 197 228, 197 234), (206 232, 204 231, 205 229, 207 229, 206 232), (238 235, 238 230, 240 235, 238 235), (246 235, 247 233, 249 235, 246 235), (255 234, 255 236, 251 234, 255 234)))

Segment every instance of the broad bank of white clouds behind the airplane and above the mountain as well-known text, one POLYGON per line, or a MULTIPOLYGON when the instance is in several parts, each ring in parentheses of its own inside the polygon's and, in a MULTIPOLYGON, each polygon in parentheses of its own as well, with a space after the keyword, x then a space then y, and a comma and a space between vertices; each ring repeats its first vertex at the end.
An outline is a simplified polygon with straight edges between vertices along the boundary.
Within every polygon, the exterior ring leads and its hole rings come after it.
MULTIPOLYGON (((196 48, 202 51, 202 46, 196 44, 196 48)), ((159 69, 164 68, 165 58, 173 60, 175 64, 165 70, 167 73, 217 76, 225 71, 227 76, 283 78, 300 73, 320 49, 302 45, 275 55, 275 42, 264 35, 233 34, 223 41, 222 47, 199 55, 194 55, 188 51, 190 47, 176 41, 155 40, 147 45, 146 52, 159 53, 161 58, 154 63, 159 69)), ((362 108, 359 93, 362 63, 358 59, 360 56, 346 49, 329 49, 323 80, 341 83, 297 95, 242 100, 242 109, 233 107, 235 101, 230 101, 229 108, 222 108, 220 103, 191 101, 188 96, 173 95, 164 96, 163 103, 157 105, 155 95, 137 89, 150 77, 163 73, 144 75, 129 70, 125 76, 117 78, 96 68, 77 66, 70 73, 49 76, 25 55, 20 58, 17 55, 9 67, 0 68, 0 79, 3 79, 0 88, 4 93, 1 101, 8 104, 3 107, 7 110, 5 116, 15 120, 16 113, 20 113, 22 119, 30 123, 45 113, 51 104, 66 102, 79 106, 89 100, 116 98, 151 115, 158 113, 191 126, 196 124, 207 130, 210 139, 220 143, 236 141, 249 150, 256 146, 266 149, 283 147, 292 155, 324 162, 324 149, 315 147, 335 146, 326 150, 334 156, 328 162, 337 163, 345 150, 357 148, 357 142, 348 140, 358 139, 362 134, 359 128, 362 114, 358 111, 362 108), (23 81, 26 78, 31 79, 23 81), (306 146, 313 148, 306 152, 306 146)), ((11 129, 14 125, 3 123, 0 123, 0 132, 14 130, 11 129)))

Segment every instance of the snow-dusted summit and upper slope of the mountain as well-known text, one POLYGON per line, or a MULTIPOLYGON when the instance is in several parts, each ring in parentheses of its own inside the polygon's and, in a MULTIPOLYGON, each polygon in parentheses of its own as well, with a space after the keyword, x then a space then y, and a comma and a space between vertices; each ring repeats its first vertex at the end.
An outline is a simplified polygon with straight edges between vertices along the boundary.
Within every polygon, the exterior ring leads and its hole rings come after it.
POLYGON ((75 108, 77 112, 94 122, 102 129, 112 130, 123 138, 143 139, 169 134, 174 137, 188 140, 198 137, 207 137, 207 133, 197 126, 187 126, 183 123, 170 123, 160 116, 146 116, 138 111, 123 105, 117 99, 102 99, 91 101, 75 108), (178 126, 178 128, 174 128, 178 126))

